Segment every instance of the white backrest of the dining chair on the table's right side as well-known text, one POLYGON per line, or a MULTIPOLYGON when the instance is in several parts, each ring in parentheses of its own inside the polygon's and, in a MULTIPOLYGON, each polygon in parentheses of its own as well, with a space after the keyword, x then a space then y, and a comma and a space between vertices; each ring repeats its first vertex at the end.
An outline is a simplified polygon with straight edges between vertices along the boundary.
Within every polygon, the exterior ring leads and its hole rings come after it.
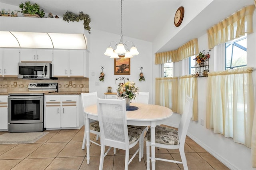
POLYGON ((180 145, 185 144, 185 139, 188 132, 188 126, 192 116, 192 109, 193 109, 193 99, 186 96, 185 108, 181 116, 180 125, 178 127, 180 145))

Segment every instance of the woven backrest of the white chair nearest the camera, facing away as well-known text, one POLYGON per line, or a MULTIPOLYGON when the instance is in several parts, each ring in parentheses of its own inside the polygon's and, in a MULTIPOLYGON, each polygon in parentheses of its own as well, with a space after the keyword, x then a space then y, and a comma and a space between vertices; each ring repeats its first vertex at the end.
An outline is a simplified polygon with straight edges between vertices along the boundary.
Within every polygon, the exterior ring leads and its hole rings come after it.
POLYGON ((100 142, 106 146, 126 149, 129 146, 124 99, 97 98, 100 142))

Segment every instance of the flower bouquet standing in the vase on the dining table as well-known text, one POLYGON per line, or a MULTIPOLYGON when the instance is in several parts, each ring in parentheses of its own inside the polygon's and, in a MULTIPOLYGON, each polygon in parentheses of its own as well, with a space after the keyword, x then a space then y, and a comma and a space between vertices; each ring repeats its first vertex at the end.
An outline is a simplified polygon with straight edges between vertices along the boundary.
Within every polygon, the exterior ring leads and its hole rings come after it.
POLYGON ((118 97, 134 99, 136 97, 138 87, 135 86, 133 81, 127 81, 126 83, 119 83, 117 90, 118 97))

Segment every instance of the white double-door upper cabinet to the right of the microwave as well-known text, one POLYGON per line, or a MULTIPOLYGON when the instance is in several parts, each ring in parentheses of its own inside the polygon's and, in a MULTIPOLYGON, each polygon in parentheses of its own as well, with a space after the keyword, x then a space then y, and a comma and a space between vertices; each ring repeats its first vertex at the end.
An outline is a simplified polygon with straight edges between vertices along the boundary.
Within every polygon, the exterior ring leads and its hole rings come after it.
POLYGON ((54 77, 85 77, 84 50, 54 50, 54 77))

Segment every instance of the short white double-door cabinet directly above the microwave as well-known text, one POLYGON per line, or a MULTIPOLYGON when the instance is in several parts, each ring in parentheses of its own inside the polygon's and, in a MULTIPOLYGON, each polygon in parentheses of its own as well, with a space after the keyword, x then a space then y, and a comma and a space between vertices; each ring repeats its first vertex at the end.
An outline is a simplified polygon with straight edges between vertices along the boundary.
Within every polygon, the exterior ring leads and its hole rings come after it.
POLYGON ((52 62, 52 50, 49 49, 20 49, 20 61, 52 62))

